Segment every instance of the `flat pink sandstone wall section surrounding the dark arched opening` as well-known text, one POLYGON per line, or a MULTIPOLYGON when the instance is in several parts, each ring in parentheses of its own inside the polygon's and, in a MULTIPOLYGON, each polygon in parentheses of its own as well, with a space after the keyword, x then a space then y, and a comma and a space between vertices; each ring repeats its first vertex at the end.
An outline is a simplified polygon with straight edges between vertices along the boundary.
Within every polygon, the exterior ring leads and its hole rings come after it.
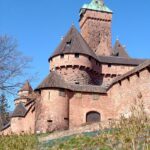
POLYGON ((86 123, 86 114, 90 111, 99 112, 101 121, 113 116, 113 103, 107 95, 99 95, 99 98, 94 100, 92 93, 74 93, 69 102, 69 128, 86 123))

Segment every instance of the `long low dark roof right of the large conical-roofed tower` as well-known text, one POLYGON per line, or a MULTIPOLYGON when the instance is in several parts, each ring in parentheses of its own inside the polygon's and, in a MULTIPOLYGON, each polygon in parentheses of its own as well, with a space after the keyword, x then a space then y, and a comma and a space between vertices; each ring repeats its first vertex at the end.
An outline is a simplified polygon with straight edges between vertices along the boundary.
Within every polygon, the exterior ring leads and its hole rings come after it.
POLYGON ((133 59, 133 58, 123 58, 115 56, 98 56, 99 62, 106 64, 122 64, 122 65, 133 65, 137 66, 142 64, 146 59, 133 59))

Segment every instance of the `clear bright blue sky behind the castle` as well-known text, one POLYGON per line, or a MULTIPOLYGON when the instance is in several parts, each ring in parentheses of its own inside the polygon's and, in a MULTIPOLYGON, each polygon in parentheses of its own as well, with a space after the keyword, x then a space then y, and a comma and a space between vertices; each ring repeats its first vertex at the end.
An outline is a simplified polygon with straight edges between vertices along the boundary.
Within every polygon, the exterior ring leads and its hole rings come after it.
MULTIPOLYGON (((49 73, 48 58, 61 37, 72 24, 79 30, 79 10, 90 1, 0 0, 0 35, 15 38, 18 50, 32 58, 28 72, 37 76, 33 88, 49 73)), ((131 57, 150 58, 150 0, 105 0, 105 4, 113 11, 113 44, 119 38, 131 57)))

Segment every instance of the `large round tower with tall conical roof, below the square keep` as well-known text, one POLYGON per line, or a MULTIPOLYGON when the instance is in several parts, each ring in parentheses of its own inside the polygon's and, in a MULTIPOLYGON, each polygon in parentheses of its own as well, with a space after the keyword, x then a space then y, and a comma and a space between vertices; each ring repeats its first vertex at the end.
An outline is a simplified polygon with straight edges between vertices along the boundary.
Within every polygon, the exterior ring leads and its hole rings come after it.
POLYGON ((100 64, 74 26, 49 59, 50 69, 71 84, 99 85, 100 64))

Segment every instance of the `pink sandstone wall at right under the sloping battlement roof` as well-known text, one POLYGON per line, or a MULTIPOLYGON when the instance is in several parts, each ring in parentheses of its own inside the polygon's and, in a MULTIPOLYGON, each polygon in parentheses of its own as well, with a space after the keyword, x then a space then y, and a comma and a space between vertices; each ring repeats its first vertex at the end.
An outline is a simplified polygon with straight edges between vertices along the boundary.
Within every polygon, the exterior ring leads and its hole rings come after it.
POLYGON ((130 106, 138 99, 138 95, 142 95, 146 111, 150 113, 150 72, 145 69, 138 75, 133 75, 129 79, 125 79, 121 84, 115 84, 109 90, 109 98, 113 101, 114 118, 118 118, 121 114, 129 115, 130 106))

